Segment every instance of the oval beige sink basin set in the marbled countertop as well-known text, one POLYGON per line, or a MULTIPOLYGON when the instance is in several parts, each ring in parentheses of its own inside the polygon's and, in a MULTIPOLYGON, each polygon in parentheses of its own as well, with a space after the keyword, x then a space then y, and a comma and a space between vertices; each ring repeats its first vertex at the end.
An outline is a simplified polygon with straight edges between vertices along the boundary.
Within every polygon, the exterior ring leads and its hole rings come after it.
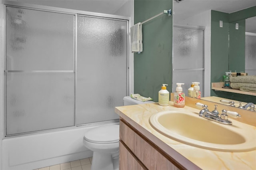
POLYGON ((150 117, 150 125, 173 140, 199 148, 225 152, 256 149, 254 127, 238 121, 235 125, 222 125, 188 109, 155 113, 150 117))

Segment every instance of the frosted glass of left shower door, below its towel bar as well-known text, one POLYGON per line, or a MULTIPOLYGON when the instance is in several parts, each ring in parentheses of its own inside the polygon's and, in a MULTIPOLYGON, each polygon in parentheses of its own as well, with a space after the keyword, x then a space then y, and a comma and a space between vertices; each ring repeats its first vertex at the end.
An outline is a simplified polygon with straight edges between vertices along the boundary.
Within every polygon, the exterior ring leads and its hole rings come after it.
POLYGON ((74 73, 7 73, 6 134, 74 126, 74 73))

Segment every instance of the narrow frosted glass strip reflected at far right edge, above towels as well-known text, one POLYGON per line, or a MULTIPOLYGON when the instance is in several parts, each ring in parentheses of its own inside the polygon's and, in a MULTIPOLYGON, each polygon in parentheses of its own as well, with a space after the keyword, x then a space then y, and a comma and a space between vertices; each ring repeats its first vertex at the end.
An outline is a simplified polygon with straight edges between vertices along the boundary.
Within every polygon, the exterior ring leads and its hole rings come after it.
POLYGON ((245 36, 245 72, 256 75, 256 36, 245 36))

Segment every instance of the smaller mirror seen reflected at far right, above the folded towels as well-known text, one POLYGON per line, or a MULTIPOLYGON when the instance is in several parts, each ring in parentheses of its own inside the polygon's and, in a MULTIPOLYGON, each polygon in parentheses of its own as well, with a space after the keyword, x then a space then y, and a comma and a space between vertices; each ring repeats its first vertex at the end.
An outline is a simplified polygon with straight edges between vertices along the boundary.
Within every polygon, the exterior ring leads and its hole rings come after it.
POLYGON ((256 75, 256 65, 252 65, 256 62, 256 17, 246 18, 246 15, 244 17, 229 24, 228 70, 238 73, 246 71, 248 75, 256 75))

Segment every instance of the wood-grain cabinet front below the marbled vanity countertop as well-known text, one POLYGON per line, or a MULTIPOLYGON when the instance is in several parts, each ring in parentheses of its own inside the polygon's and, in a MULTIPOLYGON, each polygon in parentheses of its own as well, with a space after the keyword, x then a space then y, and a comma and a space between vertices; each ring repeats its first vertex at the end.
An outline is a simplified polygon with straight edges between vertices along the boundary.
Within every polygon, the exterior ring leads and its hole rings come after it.
POLYGON ((123 119, 120 120, 120 170, 178 170, 182 165, 123 119))

